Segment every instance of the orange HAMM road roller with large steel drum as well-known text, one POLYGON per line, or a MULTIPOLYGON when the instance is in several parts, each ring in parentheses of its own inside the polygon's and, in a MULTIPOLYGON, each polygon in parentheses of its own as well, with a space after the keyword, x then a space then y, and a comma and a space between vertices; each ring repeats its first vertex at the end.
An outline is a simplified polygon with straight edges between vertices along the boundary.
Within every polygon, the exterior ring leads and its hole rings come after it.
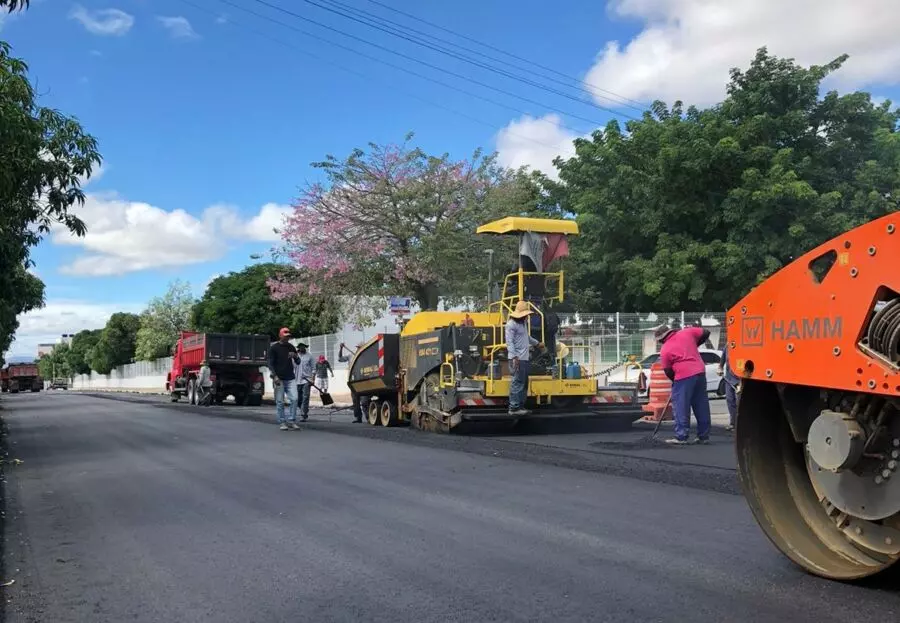
POLYGON ((900 559, 900 214, 810 251, 727 313, 750 509, 807 571, 900 559))

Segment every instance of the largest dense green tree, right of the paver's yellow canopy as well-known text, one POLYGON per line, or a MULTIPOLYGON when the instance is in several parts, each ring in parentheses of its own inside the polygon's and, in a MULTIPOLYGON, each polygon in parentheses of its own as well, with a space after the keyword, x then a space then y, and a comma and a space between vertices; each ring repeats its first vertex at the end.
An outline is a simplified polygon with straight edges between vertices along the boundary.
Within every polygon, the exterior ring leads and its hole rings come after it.
POLYGON ((583 236, 582 309, 723 309, 794 257, 900 200, 898 113, 868 93, 820 97, 846 60, 804 68, 758 51, 712 108, 656 102, 615 121, 545 180, 583 236))

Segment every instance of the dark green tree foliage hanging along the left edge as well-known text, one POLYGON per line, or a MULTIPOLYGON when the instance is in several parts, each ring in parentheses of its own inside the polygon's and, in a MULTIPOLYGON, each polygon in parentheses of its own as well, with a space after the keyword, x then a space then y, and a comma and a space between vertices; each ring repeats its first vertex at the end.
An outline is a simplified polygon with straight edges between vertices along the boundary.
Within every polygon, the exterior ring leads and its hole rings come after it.
MULTIPOLYGON (((28 6, 0 0, 0 10, 28 6)), ((96 140, 79 123, 37 104, 28 66, 0 41, 0 353, 9 348, 17 316, 43 306, 41 281, 27 272, 30 249, 62 225, 83 235, 73 208, 84 201, 81 180, 100 163, 96 140)))

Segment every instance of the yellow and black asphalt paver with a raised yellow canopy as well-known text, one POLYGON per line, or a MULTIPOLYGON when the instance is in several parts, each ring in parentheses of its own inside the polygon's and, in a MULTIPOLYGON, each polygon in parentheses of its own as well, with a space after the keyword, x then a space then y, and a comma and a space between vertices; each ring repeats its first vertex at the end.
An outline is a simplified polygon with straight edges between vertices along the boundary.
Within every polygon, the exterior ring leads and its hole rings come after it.
POLYGON ((508 217, 477 233, 516 236, 520 252, 532 243, 539 251, 519 255, 518 270, 506 275, 500 300, 487 309, 422 311, 400 333, 376 335, 356 350, 348 385, 369 424, 450 432, 471 422, 604 418, 630 427, 642 415, 636 388, 599 386, 587 370, 564 360, 565 345, 555 346, 553 307, 564 300, 564 274, 547 268, 567 253, 567 237, 578 234, 578 224, 508 217), (531 336, 547 346, 531 358, 525 415, 509 411, 504 330, 519 301, 533 312, 531 336))

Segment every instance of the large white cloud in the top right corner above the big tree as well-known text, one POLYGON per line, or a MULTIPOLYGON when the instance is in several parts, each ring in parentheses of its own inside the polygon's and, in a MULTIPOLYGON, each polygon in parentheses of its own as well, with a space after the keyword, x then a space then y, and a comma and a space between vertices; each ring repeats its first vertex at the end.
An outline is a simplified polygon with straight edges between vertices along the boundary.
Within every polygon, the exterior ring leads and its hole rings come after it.
POLYGON ((605 89, 636 100, 711 104, 725 94, 728 70, 745 68, 756 49, 803 65, 850 59, 831 79, 839 88, 900 81, 896 0, 612 0, 611 13, 643 22, 631 41, 609 42, 585 77, 598 102, 605 89))

